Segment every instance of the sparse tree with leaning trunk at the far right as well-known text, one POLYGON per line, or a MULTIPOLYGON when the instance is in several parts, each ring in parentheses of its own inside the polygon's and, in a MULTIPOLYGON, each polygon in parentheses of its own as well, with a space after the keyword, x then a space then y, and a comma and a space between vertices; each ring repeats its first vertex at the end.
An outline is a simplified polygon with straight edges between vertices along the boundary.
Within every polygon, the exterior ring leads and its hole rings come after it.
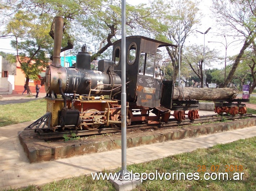
POLYGON ((243 46, 226 78, 223 87, 232 80, 244 51, 254 42, 256 32, 256 3, 253 0, 213 0, 212 11, 224 31, 244 38, 243 46))

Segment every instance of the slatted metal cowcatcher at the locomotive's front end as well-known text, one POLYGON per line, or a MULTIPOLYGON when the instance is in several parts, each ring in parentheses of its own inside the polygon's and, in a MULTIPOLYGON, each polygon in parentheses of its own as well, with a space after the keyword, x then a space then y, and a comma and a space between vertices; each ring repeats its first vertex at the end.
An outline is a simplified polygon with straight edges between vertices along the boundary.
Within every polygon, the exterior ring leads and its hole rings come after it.
POLYGON ((33 129, 34 127, 35 127, 34 129, 55 129, 55 128, 50 127, 51 118, 52 118, 52 113, 47 112, 47 113, 45 113, 45 115, 40 117, 38 120, 36 120, 35 122, 33 122, 32 124, 27 126, 24 130, 30 130, 30 129, 33 129), (40 128, 41 125, 43 125, 43 126, 40 128), (47 125, 47 126, 45 127, 45 125, 47 125))

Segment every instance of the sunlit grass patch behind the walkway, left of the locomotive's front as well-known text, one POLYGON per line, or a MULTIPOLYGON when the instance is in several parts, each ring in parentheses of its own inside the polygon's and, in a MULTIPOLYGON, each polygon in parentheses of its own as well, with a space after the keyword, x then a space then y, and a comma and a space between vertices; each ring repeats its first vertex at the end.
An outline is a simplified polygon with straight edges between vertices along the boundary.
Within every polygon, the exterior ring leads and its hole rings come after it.
POLYGON ((46 113, 46 101, 0 105, 0 127, 36 120, 46 113))

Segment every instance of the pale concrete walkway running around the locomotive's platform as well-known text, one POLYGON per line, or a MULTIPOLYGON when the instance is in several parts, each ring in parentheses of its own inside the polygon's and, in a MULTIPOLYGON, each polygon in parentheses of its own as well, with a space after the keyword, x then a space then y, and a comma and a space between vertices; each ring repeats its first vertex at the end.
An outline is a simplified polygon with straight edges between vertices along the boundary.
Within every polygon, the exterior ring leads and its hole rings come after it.
MULTIPOLYGON (((121 150, 30 164, 17 132, 31 122, 0 127, 0 189, 40 185, 121 166, 121 150)), ((256 136, 256 126, 127 149, 127 163, 142 163, 256 136), (175 146, 173 146, 175 145, 175 146)), ((153 169, 152 169, 153 170, 153 169)))

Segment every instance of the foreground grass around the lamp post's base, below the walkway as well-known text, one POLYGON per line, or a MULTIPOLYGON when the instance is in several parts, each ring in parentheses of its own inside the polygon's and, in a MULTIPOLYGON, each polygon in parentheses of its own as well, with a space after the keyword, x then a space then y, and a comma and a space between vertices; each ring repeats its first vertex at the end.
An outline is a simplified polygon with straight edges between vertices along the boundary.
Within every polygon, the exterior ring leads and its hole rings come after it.
MULTIPOLYGON (((175 145, 174 145, 175 146, 175 145)), ((240 139, 228 144, 217 144, 207 149, 197 149, 194 152, 172 155, 163 159, 127 166, 128 171, 137 173, 199 173, 202 180, 146 180, 134 190, 256 190, 256 137, 240 139), (198 172, 199 165, 206 166, 205 172, 198 172), (228 171, 228 180, 204 180, 203 174, 225 173, 225 167, 242 165, 243 180, 229 180, 233 173, 228 171), (211 166, 216 167, 211 171, 211 166), (219 170, 217 171, 217 166, 219 170)), ((116 169, 111 172, 118 172, 116 169)), ((201 171, 203 169, 201 168, 201 171)), ((104 171, 110 172, 110 171, 104 171)), ((40 186, 29 186, 20 190, 115 190, 107 180, 94 181, 88 176, 73 177, 61 181, 54 181, 40 186)))

